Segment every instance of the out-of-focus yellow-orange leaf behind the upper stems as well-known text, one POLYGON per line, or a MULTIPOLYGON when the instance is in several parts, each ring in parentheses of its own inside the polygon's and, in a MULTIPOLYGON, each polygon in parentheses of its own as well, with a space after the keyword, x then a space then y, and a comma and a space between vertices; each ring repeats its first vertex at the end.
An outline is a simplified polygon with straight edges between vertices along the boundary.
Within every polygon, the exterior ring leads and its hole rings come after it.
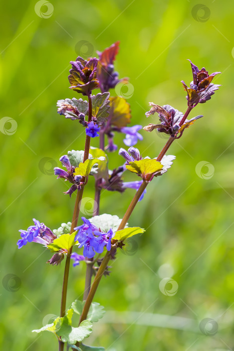
POLYGON ((126 127, 131 122, 130 105, 121 96, 110 97, 110 121, 118 128, 126 127))

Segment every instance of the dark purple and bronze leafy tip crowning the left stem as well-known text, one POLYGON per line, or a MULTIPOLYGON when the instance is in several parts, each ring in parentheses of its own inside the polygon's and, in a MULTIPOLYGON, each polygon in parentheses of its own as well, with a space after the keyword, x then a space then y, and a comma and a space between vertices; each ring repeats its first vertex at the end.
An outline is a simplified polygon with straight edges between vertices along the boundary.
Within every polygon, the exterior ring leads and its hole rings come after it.
POLYGON ((98 59, 94 57, 87 61, 79 56, 76 61, 71 61, 70 63, 72 65, 68 76, 71 84, 70 88, 88 96, 99 84, 97 79, 98 59))

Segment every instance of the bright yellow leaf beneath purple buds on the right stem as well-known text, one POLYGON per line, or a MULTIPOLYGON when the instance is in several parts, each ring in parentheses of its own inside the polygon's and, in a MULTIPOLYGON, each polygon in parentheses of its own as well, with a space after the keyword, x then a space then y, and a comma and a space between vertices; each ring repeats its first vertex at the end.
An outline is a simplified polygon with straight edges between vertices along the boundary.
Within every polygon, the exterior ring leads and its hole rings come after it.
POLYGON ((156 159, 144 158, 139 161, 129 162, 126 164, 126 168, 131 172, 142 175, 144 179, 147 174, 153 174, 162 168, 162 164, 156 159))

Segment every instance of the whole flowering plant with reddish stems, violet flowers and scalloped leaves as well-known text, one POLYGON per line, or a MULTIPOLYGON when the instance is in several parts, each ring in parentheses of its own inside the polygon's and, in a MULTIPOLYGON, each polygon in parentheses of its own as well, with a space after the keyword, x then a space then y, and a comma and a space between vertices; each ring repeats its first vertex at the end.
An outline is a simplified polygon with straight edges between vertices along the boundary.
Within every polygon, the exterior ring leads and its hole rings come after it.
MULTIPOLYGON (((60 158, 62 167, 55 167, 54 173, 57 178, 71 183, 71 187, 65 194, 70 198, 76 195, 72 222, 62 223, 61 227, 52 231, 44 223, 33 219, 34 225, 27 230, 20 230, 21 239, 17 245, 19 249, 26 244, 36 242, 42 244, 53 253, 48 261, 52 266, 60 265, 66 258, 64 267, 64 279, 61 298, 60 316, 52 323, 43 326, 34 332, 50 331, 58 339, 59 350, 63 351, 66 344, 67 349, 80 351, 101 351, 103 347, 93 347, 84 344, 84 339, 92 333, 93 323, 102 318, 104 309, 99 303, 93 302, 97 287, 103 275, 109 275, 108 263, 114 260, 118 250, 121 250, 128 238, 145 232, 140 227, 129 227, 128 220, 138 201, 141 201, 146 192, 146 187, 155 177, 163 175, 171 167, 175 156, 166 154, 172 142, 180 138, 186 128, 192 125, 202 116, 188 119, 189 113, 198 103, 204 103, 210 99, 219 85, 212 83, 214 76, 202 68, 199 70, 193 63, 193 81, 188 88, 182 81, 187 93, 187 110, 183 114, 170 105, 157 105, 150 102, 150 110, 146 117, 159 116, 159 122, 149 123, 143 129, 151 132, 156 129, 159 133, 168 135, 168 140, 158 155, 153 154, 150 158, 143 157, 134 145, 143 136, 139 133, 141 125, 132 125, 131 111, 127 101, 121 96, 110 96, 110 89, 117 84, 127 81, 127 78, 118 79, 118 73, 114 71, 114 60, 119 50, 119 42, 116 42, 103 52, 98 52, 99 59, 90 58, 84 60, 78 57, 71 61, 72 69, 68 77, 71 89, 88 97, 87 100, 64 99, 57 102, 58 113, 78 120, 81 124, 74 123, 74 127, 85 127, 86 139, 83 150, 71 150, 60 158), (96 95, 92 95, 94 89, 100 89, 96 95), (124 134, 124 143, 128 150, 119 149, 119 155, 124 158, 124 164, 117 168, 108 169, 107 151, 114 152, 118 146, 114 144, 114 133, 124 134), (91 138, 98 137, 100 147, 90 145, 91 138), (105 146, 105 139, 108 144, 105 146), (130 171, 133 175, 130 182, 124 182, 124 173, 130 171), (95 202, 91 218, 81 217, 83 222, 78 226, 80 207, 84 189, 88 184, 89 177, 95 178, 95 202), (135 177, 135 178, 134 178, 135 177), (116 215, 100 214, 100 195, 103 189, 123 193, 125 189, 131 188, 136 193, 123 217, 119 219, 116 215), (74 194, 75 193, 75 194, 74 194), (74 250, 74 251, 73 251, 74 250), (76 252, 78 251, 78 252, 76 252), (71 259, 74 269, 76 266, 86 264, 86 282, 84 287, 83 301, 75 300, 70 309, 66 309, 66 297, 68 289, 68 275, 71 259), (94 279, 92 281, 92 276, 94 279), (74 325, 73 314, 80 316, 79 323, 74 325)), ((120 157, 120 160, 122 159, 120 157)))

